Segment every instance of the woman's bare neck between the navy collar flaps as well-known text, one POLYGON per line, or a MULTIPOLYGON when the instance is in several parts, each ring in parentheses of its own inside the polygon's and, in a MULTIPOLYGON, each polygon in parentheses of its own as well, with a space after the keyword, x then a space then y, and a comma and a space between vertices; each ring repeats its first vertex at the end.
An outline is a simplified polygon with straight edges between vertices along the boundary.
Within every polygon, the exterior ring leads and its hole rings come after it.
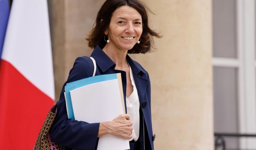
POLYGON ((120 50, 114 46, 111 46, 110 44, 106 44, 102 50, 109 56, 109 58, 113 62, 115 62, 115 69, 123 70, 124 68, 129 67, 126 61, 126 55, 128 50, 120 50))

